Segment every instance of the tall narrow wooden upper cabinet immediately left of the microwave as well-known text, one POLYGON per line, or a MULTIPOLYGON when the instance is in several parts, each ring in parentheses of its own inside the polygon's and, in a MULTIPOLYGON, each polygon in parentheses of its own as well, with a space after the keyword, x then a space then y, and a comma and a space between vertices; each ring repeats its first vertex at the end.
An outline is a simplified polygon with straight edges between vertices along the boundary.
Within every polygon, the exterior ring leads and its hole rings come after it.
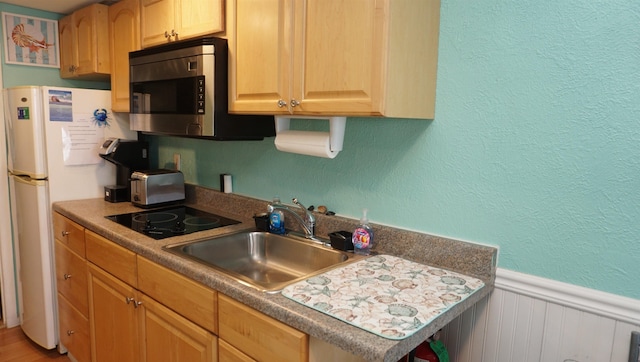
POLYGON ((140 0, 109 6, 111 109, 129 112, 129 52, 140 50, 140 0))

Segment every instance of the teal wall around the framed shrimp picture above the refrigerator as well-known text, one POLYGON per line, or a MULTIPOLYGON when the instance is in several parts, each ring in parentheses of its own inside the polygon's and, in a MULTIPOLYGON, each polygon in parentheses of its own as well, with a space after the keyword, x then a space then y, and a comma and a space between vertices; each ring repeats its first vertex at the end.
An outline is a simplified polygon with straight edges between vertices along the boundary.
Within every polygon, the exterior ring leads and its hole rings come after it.
MULTIPOLYGON (((18 15, 27 15, 44 19, 58 20, 64 15, 48 11, 34 10, 22 6, 0 3, 0 11, 18 15)), ((3 22, 4 19, 0 19, 3 22)), ((3 24, 4 29, 4 24, 3 24)), ((5 36, 2 31, 3 38, 5 36)), ((10 35, 10 34, 9 34, 10 35)), ((60 69, 36 67, 28 65, 5 64, 4 43, 2 48, 2 87, 9 88, 18 85, 49 85, 56 87, 78 87, 92 89, 110 89, 111 85, 105 82, 90 82, 81 80, 68 80, 60 78, 60 69)), ((106 54, 105 56, 108 56, 106 54)))

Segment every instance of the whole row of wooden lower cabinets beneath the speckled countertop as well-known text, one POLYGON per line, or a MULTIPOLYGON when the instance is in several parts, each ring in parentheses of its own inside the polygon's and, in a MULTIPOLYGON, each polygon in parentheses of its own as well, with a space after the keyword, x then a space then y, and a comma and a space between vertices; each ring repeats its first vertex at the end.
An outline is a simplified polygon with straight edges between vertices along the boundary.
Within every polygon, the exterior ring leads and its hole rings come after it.
POLYGON ((60 340, 78 362, 361 361, 55 217, 60 340))

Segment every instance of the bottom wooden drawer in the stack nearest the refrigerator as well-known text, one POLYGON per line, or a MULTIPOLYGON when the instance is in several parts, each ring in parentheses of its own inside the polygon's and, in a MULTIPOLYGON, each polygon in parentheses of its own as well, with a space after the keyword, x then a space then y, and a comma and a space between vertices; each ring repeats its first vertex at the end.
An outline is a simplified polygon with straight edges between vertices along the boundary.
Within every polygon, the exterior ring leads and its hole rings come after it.
POLYGON ((89 320, 58 293, 59 331, 62 343, 79 362, 91 360, 89 320))

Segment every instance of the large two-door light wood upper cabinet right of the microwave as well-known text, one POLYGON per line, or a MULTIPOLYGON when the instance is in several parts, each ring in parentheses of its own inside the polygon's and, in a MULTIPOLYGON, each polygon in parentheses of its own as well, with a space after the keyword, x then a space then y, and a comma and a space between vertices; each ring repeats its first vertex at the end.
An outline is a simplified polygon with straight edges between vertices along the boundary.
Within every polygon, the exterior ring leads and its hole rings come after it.
POLYGON ((432 119, 439 0, 229 0, 232 113, 432 119))

